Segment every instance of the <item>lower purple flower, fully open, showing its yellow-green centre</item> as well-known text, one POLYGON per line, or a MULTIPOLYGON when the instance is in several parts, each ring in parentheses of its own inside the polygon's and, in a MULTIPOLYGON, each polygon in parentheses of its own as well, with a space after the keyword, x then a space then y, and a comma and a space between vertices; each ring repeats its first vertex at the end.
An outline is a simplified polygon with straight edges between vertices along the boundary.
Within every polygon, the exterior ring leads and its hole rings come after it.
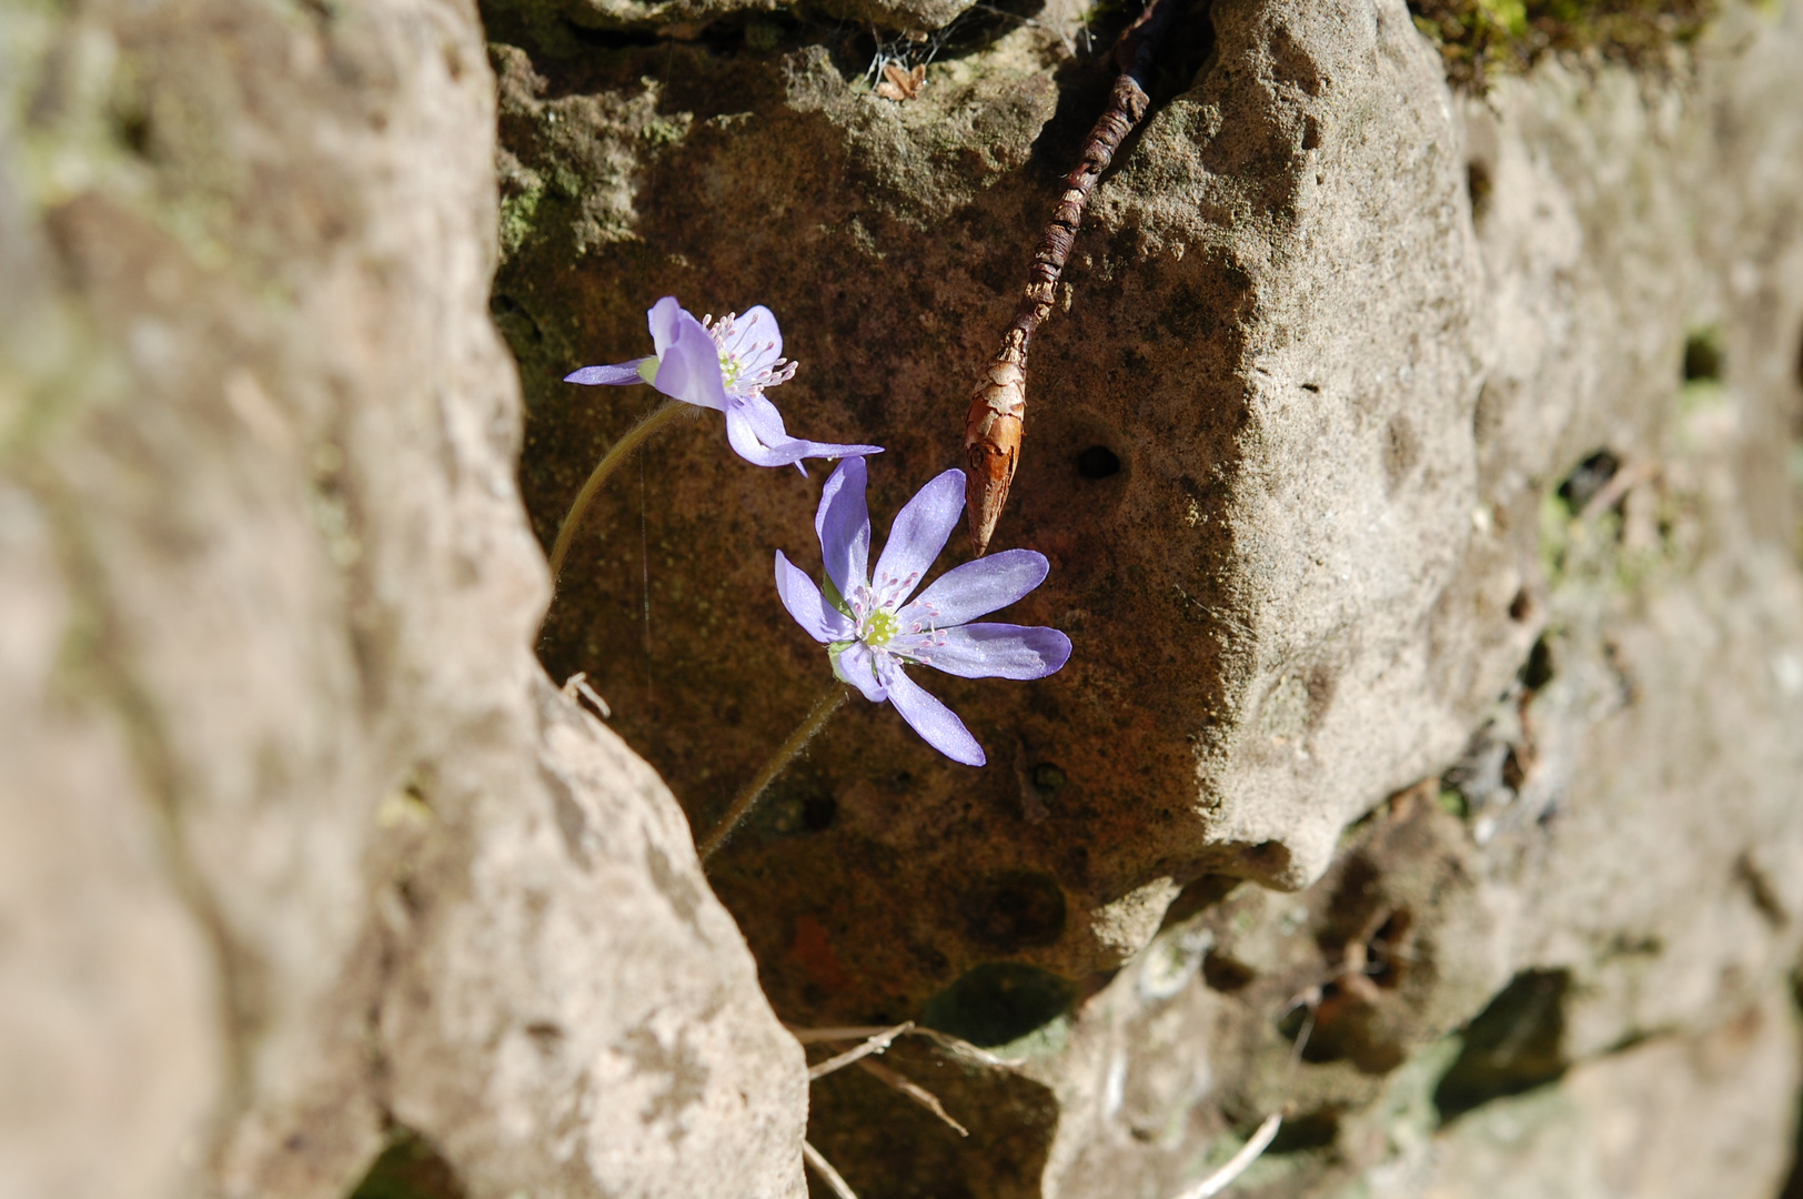
POLYGON ((826 645, 833 674, 871 703, 892 703, 952 761, 981 766, 983 746, 965 723, 902 667, 930 665, 959 678, 1044 678, 1062 667, 1071 638, 1058 629, 970 624, 1044 582, 1046 555, 1004 550, 979 557, 945 572, 909 602, 965 510, 965 472, 947 471, 896 514, 874 582, 864 481, 864 460, 847 458, 820 494, 813 526, 826 559, 826 593, 777 550, 777 595, 795 622, 826 645))

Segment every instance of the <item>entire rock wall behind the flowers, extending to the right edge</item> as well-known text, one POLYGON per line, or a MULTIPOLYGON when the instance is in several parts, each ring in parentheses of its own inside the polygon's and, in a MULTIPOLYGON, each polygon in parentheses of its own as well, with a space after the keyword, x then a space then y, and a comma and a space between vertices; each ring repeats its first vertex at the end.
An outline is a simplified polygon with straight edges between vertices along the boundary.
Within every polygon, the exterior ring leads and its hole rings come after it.
MULTIPOLYGON (((783 317, 790 427, 889 447, 878 525, 956 465, 1107 81, 1060 34, 997 25, 903 105, 826 27, 496 47, 541 541, 651 404, 557 380, 642 353, 662 294, 783 317)), ((1803 18, 1484 101, 1392 4, 1221 2, 1176 41, 1035 343, 999 534, 1051 557, 1011 615, 1069 629, 1071 667, 927 676, 983 772, 855 705, 716 867, 786 1019, 925 1015, 1028 1064, 902 1058, 970 1141, 860 1075, 817 1085, 811 1136, 865 1199, 1158 1199, 1287 1103, 1258 1194, 1464 1194, 1498 1156, 1522 1194, 1771 1194, 1803 18), (1080 474, 1094 445, 1116 474, 1080 474)), ((768 581, 772 548, 811 561, 819 474, 703 416, 564 572, 541 654, 595 674, 696 826, 824 682, 768 581)))

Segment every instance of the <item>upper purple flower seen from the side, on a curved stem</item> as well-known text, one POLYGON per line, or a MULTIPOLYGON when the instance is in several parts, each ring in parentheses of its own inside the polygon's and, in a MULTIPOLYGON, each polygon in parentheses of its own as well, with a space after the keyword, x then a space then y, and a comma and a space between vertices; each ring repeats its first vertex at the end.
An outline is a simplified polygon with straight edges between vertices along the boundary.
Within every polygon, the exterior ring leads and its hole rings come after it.
POLYGON ((882 445, 829 445, 788 435, 783 413, 764 398, 764 388, 795 375, 795 364, 783 361, 783 332, 770 308, 757 305, 743 317, 734 314, 716 325, 714 317, 696 321, 674 296, 665 296, 647 316, 656 353, 613 366, 584 366, 564 375, 564 382, 649 382, 683 404, 718 409, 727 415, 734 453, 759 467, 793 465, 806 474, 802 458, 883 453, 882 445))

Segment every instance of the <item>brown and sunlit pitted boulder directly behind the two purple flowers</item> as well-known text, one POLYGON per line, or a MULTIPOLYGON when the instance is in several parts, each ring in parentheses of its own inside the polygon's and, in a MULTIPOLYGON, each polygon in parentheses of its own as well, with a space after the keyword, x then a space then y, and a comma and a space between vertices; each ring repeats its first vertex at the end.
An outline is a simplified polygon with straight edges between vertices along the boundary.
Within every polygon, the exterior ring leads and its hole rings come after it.
MULTIPOLYGON (((750 934, 766 959, 819 896, 842 896, 808 916, 838 959, 822 968, 846 977, 828 988, 838 1013, 912 1010, 995 956, 1073 979, 1111 968, 1134 948, 1114 905, 1170 889, 1159 880, 1302 885, 1374 797, 1457 755, 1527 649, 1522 627, 1500 651, 1478 645, 1482 613, 1444 600, 1475 507, 1480 267, 1437 59, 1401 7, 1320 23, 1309 49, 1280 32, 1295 23, 1215 11, 1222 65, 1103 186, 1116 233, 1080 251, 1082 307, 1035 348, 1033 444, 1002 537, 1051 557, 1051 581, 1017 611, 1067 627, 1073 665, 1033 687, 939 687, 990 746, 997 768, 983 773, 856 707, 824 736, 813 777, 788 783, 802 806, 833 795, 833 828, 766 828, 719 871, 728 903, 783 912, 750 934), (1273 56, 1273 40, 1287 49, 1273 56), (1408 94, 1439 99, 1397 106, 1408 94), (1365 254, 1383 269, 1296 270, 1365 254), (1120 474, 1076 476, 1093 444, 1118 451, 1120 474), (1039 766, 1062 773, 1057 797, 1024 781, 1039 766), (970 862, 986 878, 941 885, 970 862), (1022 905, 1031 927, 993 914, 1022 905)), ((993 50, 993 72, 954 65, 907 106, 849 87, 819 47, 705 65, 689 52, 647 83, 665 50, 602 56, 590 72, 633 83, 599 97, 499 50, 503 206, 537 231, 499 292, 535 406, 526 487, 543 528, 642 404, 555 379, 636 352, 642 297, 660 292, 784 314, 804 361, 784 389, 792 424, 889 447, 873 467, 878 512, 950 465, 945 413, 1046 211, 1042 189, 997 186, 1055 115, 1051 69, 1026 74, 1030 50, 1062 52, 1022 31, 993 50), (761 108, 691 110, 703 103, 761 108), (682 115, 653 126, 651 105, 682 115), (599 159, 618 180, 635 151, 636 193, 615 193, 611 225, 588 189, 557 195, 561 173, 599 159)), ((1105 83, 1107 67, 1089 74, 1105 83)), ((1069 150, 1040 141, 1042 159, 1069 150)), ((606 680, 618 727, 700 822, 826 678, 768 584, 772 546, 808 557, 811 505, 808 483, 723 454, 703 422, 647 453, 645 487, 615 487, 572 552, 546 658, 606 680)), ((766 981, 779 1006, 819 1006, 793 990, 804 983, 766 981)))

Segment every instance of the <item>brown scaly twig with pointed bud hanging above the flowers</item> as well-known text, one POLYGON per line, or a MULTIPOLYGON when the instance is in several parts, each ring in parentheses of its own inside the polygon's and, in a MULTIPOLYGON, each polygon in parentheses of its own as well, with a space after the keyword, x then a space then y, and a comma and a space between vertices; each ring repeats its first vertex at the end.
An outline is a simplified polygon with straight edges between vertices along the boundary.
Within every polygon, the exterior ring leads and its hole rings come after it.
POLYGON ((1033 267, 1028 270, 1013 325, 1002 334, 1001 350, 990 359, 970 395, 970 413, 965 416, 965 460, 970 467, 965 499, 970 510, 970 550, 977 557, 990 548, 995 521, 1008 503, 1008 487, 1020 460, 1028 344, 1040 323, 1051 316, 1058 276, 1064 274, 1064 263, 1071 256, 1071 243, 1084 224, 1084 211, 1096 191, 1096 180, 1109 169, 1114 151, 1152 105, 1147 94, 1152 52, 1176 18, 1177 4, 1179 0, 1150 0, 1114 43, 1120 76, 1114 79, 1109 106, 1089 130, 1076 169, 1064 178, 1064 195, 1058 197, 1051 222, 1033 252, 1033 267))

